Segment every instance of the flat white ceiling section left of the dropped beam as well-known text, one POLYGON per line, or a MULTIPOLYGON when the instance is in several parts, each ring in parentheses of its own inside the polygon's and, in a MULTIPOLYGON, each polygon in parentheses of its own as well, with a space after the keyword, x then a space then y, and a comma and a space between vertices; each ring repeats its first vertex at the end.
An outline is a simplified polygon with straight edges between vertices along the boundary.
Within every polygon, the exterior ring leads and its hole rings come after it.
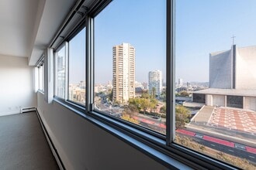
POLYGON ((31 32, 39 1, 0 1, 0 54, 29 56, 31 32))

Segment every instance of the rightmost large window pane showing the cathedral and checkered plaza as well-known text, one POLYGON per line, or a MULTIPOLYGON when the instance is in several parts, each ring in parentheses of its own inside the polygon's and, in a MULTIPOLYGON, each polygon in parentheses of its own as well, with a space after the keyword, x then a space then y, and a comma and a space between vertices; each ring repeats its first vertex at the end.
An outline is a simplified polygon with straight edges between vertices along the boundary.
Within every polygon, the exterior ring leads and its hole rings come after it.
POLYGON ((256 169, 256 1, 177 0, 175 142, 256 169))

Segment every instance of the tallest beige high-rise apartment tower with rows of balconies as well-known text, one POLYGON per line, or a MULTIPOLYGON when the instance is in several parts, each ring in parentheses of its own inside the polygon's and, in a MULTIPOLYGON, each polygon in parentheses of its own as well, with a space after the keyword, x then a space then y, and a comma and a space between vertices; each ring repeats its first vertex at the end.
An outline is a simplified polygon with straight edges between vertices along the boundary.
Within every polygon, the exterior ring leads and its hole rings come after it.
POLYGON ((126 104, 135 97, 135 49, 129 43, 113 46, 113 101, 126 104))

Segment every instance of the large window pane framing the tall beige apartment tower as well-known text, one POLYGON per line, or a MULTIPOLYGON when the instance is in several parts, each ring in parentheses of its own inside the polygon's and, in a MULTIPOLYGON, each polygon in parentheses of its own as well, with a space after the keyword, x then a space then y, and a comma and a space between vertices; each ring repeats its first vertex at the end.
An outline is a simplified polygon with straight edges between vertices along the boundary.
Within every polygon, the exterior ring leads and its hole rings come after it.
POLYGON ((161 134, 165 23, 164 0, 117 0, 95 17, 95 109, 161 134))

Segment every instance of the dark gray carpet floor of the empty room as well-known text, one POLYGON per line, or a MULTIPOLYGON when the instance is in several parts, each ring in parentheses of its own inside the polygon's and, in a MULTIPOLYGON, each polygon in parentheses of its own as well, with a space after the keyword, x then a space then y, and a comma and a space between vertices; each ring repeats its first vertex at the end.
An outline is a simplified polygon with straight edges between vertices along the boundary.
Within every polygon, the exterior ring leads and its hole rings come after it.
POLYGON ((59 169, 36 112, 0 117, 0 169, 59 169))

